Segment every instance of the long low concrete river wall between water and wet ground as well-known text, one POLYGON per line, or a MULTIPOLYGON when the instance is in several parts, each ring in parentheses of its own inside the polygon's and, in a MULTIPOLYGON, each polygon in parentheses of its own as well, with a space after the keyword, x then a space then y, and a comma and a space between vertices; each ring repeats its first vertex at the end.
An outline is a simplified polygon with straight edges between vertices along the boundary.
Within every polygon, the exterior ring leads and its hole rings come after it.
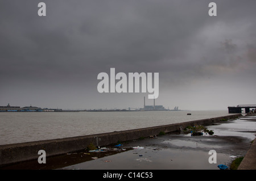
POLYGON ((141 137, 157 135, 160 132, 174 132, 188 126, 209 125, 222 119, 232 119, 242 116, 241 114, 214 117, 210 119, 188 121, 184 123, 160 125, 150 128, 132 129, 86 136, 68 137, 53 140, 32 141, 19 144, 0 145, 0 166, 16 162, 38 159, 39 150, 46 151, 46 157, 70 153, 72 151, 85 150, 89 144, 95 146, 112 145, 117 142, 136 140, 141 137))

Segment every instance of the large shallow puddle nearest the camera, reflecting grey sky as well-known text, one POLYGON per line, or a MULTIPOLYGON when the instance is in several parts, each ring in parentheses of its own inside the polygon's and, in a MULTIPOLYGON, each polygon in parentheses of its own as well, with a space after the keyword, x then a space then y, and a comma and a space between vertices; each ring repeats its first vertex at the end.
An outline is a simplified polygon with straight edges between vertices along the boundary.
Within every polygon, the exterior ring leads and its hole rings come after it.
POLYGON ((210 169, 219 170, 217 165, 227 164, 232 160, 229 155, 217 153, 217 163, 210 164, 208 151, 202 150, 181 150, 181 149, 161 149, 158 152, 139 150, 138 154, 134 151, 110 155, 104 159, 96 159, 77 165, 64 167, 63 169, 126 169, 126 170, 175 170, 175 169, 210 169), (142 156, 139 156, 142 154, 142 156), (108 160, 109 162, 104 162, 108 160))

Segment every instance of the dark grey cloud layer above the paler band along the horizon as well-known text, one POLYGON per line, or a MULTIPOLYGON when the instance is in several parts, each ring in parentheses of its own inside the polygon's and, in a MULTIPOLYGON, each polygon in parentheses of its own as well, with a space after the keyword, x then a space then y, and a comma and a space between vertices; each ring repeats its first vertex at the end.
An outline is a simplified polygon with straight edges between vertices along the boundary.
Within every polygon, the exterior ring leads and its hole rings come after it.
POLYGON ((110 68, 159 72, 160 87, 179 86, 255 63, 255 1, 214 1, 216 17, 211 1, 43 1, 46 17, 39 2, 0 1, 6 92, 15 83, 96 91, 110 68))

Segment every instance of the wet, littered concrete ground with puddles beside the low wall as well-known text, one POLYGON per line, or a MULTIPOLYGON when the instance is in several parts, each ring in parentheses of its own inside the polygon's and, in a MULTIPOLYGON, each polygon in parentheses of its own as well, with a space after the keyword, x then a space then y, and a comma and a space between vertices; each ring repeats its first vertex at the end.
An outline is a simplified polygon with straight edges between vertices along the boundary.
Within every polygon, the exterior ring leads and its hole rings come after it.
POLYGON ((172 170, 210 169, 217 165, 229 166, 236 157, 246 154, 256 133, 256 117, 242 117, 209 125, 214 134, 191 136, 190 133, 172 133, 155 138, 143 138, 108 146, 100 153, 79 152, 49 157, 46 164, 23 162, 1 169, 63 169, 63 170, 172 170), (133 149, 139 146, 141 149, 133 149), (208 159, 217 153, 217 163, 208 159))

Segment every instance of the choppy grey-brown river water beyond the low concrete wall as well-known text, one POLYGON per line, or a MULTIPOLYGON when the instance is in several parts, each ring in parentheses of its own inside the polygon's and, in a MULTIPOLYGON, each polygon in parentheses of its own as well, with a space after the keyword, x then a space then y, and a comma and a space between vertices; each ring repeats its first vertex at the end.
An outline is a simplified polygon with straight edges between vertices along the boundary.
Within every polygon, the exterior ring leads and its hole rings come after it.
POLYGON ((0 145, 154 127, 225 115, 228 111, 0 112, 0 145))

